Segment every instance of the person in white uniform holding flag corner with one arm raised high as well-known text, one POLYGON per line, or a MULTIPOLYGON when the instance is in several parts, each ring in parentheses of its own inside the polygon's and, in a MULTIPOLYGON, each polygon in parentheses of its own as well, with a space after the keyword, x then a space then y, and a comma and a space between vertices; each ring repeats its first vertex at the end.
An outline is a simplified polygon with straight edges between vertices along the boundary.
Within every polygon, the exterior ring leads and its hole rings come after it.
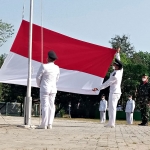
POLYGON ((106 87, 110 86, 109 92, 109 107, 108 107, 108 114, 109 114, 109 121, 105 127, 115 127, 115 120, 116 120, 116 107, 118 100, 121 96, 121 81, 123 75, 123 65, 120 62, 120 48, 117 49, 115 62, 113 63, 114 71, 110 74, 110 78, 103 83, 99 88, 94 88, 93 91, 102 90, 106 87))

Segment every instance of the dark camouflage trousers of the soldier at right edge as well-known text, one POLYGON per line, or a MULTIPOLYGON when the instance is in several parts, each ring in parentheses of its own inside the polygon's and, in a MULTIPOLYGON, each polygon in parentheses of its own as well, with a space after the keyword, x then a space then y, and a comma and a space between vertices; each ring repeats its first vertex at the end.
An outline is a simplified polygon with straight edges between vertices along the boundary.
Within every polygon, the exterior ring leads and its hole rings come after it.
POLYGON ((140 105, 142 123, 146 124, 149 121, 149 106, 147 104, 140 105))

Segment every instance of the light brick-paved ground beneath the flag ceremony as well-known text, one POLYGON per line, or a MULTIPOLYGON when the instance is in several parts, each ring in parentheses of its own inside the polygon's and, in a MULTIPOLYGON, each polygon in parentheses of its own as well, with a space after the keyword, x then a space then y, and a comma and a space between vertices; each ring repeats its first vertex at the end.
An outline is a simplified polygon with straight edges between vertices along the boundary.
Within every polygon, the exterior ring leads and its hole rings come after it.
POLYGON ((0 150, 150 150, 150 127, 106 128, 99 121, 55 119, 52 130, 42 130, 17 127, 22 117, 4 119, 9 124, 0 116, 0 150))

